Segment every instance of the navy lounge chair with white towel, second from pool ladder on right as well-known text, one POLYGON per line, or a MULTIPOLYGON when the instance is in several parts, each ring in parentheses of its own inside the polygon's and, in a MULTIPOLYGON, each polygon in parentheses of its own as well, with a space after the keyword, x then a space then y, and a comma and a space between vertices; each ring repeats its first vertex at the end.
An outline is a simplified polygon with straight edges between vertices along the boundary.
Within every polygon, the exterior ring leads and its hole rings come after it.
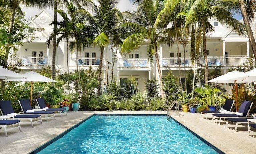
POLYGON ((220 125, 220 122, 221 122, 221 119, 224 118, 224 120, 226 118, 247 118, 249 112, 250 112, 250 109, 252 107, 252 103, 251 101, 243 101, 238 112, 239 113, 242 113, 243 115, 240 116, 240 115, 237 115, 237 114, 225 114, 225 113, 214 113, 213 114, 213 120, 215 119, 215 117, 218 117, 219 118, 219 125, 220 125))

